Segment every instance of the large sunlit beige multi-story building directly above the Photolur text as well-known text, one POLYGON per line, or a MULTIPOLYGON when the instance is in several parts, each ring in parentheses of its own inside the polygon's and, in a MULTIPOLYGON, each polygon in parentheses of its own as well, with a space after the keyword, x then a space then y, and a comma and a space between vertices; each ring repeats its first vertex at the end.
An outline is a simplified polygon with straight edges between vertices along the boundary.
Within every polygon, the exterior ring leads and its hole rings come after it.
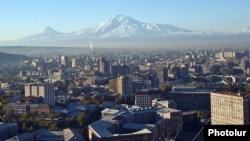
POLYGON ((230 92, 211 93, 212 125, 250 123, 250 95, 230 92))

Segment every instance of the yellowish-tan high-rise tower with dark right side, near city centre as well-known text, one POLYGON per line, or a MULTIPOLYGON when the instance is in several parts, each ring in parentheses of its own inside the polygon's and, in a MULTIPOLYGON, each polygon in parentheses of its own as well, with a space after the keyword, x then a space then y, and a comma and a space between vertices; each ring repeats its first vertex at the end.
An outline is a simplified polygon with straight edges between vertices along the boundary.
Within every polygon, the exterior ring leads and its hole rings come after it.
POLYGON ((119 76, 117 78, 117 92, 129 95, 132 93, 132 81, 129 76, 119 76))

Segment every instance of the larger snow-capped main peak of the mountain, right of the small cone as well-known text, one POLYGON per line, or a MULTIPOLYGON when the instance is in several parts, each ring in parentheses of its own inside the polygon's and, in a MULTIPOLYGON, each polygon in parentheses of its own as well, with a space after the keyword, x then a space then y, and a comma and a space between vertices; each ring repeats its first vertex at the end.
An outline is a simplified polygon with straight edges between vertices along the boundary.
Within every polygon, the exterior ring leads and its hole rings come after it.
POLYGON ((91 39, 122 39, 132 37, 153 37, 168 34, 189 33, 191 31, 172 25, 142 23, 131 17, 116 15, 100 25, 71 33, 91 39))

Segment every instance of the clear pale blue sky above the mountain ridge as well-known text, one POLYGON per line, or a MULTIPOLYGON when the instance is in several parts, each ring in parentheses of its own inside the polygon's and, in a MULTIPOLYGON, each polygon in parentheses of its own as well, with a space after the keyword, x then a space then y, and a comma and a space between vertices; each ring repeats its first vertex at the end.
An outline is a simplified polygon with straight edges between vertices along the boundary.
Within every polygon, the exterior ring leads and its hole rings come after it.
POLYGON ((0 41, 50 26, 60 32, 94 27, 114 15, 201 31, 250 27, 248 0, 1 0, 0 41))

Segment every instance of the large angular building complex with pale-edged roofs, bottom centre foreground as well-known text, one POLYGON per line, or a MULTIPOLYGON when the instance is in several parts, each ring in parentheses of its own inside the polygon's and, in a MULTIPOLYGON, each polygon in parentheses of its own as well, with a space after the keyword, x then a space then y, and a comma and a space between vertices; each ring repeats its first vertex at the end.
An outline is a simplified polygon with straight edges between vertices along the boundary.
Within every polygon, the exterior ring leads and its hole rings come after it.
POLYGON ((153 141, 183 130, 182 111, 172 108, 105 109, 102 115, 88 126, 90 141, 153 141))

